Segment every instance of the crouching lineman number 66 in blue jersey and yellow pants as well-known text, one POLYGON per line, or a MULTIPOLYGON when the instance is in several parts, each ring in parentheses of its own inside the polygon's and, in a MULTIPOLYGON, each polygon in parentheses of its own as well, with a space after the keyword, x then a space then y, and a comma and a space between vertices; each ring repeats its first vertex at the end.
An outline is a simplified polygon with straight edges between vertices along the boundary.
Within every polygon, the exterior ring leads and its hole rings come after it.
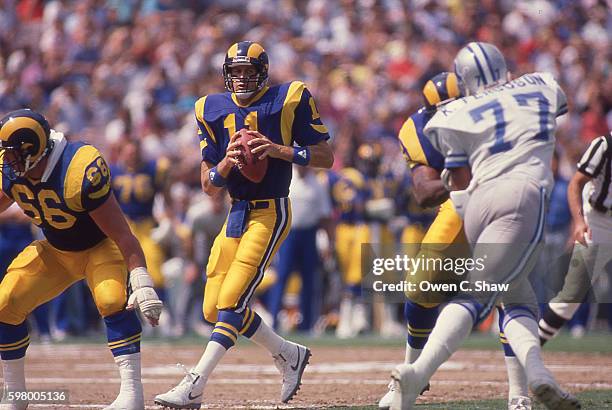
POLYGON ((26 389, 26 316, 85 279, 121 375, 119 396, 107 409, 143 409, 141 326, 133 308, 155 326, 162 304, 111 192, 104 158, 91 145, 68 142, 42 115, 24 109, 0 120, 0 171, 0 212, 17 203, 45 236, 15 258, 0 283, 4 391, 26 389))

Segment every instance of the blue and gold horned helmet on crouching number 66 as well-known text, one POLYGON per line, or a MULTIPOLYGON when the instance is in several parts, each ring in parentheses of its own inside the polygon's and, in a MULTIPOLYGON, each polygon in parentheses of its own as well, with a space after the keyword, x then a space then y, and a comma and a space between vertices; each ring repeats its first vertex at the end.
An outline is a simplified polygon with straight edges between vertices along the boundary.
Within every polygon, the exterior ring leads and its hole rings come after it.
POLYGON ((8 113, 0 120, 0 171, 8 171, 11 179, 25 176, 49 153, 50 134, 49 123, 41 114, 30 109, 8 113))

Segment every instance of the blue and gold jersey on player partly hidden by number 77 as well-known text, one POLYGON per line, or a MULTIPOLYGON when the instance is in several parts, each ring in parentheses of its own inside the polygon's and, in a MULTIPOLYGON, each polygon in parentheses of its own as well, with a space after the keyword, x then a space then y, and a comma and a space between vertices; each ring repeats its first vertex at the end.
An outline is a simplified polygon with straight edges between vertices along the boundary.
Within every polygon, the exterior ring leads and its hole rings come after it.
POLYGON ((419 165, 432 167, 440 172, 444 169, 444 157, 431 145, 423 133, 427 121, 434 114, 435 111, 428 112, 423 107, 412 114, 400 129, 398 138, 404 157, 411 169, 419 165))

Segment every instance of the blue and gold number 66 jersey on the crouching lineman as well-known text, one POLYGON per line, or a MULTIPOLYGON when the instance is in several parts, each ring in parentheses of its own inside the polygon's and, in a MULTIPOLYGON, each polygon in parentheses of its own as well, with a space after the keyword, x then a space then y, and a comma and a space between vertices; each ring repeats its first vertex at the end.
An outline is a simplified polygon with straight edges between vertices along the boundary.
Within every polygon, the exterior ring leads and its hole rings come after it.
POLYGON ((111 195, 110 171, 93 146, 67 143, 46 181, 10 180, 7 173, 2 173, 0 188, 55 248, 82 251, 106 238, 89 216, 111 195))

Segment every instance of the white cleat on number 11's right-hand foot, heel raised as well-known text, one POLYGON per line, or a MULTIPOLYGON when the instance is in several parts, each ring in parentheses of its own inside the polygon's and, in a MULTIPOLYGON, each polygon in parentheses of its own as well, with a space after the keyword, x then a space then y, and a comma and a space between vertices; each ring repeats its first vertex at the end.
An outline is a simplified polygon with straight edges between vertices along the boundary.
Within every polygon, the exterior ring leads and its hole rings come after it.
POLYGON ((274 365, 283 376, 281 402, 287 403, 295 396, 302 384, 302 375, 310 359, 310 350, 302 345, 285 342, 281 352, 274 358, 274 365))

